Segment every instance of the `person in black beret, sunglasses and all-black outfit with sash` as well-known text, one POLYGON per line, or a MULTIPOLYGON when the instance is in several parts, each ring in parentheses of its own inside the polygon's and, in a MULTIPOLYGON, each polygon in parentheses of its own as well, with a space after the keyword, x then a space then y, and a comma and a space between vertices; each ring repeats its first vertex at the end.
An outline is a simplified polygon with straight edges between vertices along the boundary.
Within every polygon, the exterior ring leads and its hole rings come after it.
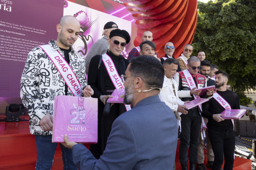
POLYGON ((129 61, 120 55, 131 40, 125 30, 115 29, 109 34, 108 51, 95 55, 89 65, 88 84, 94 90, 93 98, 98 98, 98 143, 91 144, 90 151, 99 159, 105 150, 107 139, 114 120, 127 109, 122 103, 107 103, 114 89, 124 89, 121 75, 129 61))

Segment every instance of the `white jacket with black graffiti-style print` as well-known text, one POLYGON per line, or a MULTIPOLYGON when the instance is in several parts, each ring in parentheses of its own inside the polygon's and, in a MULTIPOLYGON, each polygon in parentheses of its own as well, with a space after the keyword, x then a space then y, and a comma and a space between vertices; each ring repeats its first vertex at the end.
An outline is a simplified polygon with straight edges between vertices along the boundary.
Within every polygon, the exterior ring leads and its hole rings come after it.
MULTIPOLYGON (((49 44, 53 50, 58 50, 64 56, 64 52, 60 50, 54 40, 51 40, 49 44)), ((85 59, 72 47, 69 52, 69 58, 70 67, 83 89, 87 85, 85 59)), ((54 97, 65 95, 65 81, 40 47, 35 47, 28 53, 20 83, 20 98, 24 106, 28 108, 28 115, 30 116, 30 133, 34 135, 51 135, 52 131, 41 129, 39 121, 46 113, 53 116, 54 97)), ((72 95, 68 88, 68 96, 72 95)))

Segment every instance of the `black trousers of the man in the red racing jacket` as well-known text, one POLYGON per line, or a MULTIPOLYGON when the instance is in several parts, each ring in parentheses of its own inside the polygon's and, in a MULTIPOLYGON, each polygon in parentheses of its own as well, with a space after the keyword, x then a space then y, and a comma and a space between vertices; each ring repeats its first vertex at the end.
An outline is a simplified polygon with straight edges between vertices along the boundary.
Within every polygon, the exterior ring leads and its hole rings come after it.
POLYGON ((187 164, 197 162, 197 147, 200 135, 202 116, 198 108, 189 109, 187 115, 180 115, 181 135, 180 135, 180 163, 187 164), (189 148, 189 152, 187 151, 189 148))

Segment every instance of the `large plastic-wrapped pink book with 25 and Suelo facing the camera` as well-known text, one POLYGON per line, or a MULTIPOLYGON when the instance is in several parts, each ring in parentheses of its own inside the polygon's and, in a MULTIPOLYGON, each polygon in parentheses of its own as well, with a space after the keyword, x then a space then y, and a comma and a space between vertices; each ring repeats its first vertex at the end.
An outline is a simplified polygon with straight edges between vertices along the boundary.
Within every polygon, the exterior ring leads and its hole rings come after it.
POLYGON ((55 96, 52 142, 98 142, 98 99, 76 96, 55 96))

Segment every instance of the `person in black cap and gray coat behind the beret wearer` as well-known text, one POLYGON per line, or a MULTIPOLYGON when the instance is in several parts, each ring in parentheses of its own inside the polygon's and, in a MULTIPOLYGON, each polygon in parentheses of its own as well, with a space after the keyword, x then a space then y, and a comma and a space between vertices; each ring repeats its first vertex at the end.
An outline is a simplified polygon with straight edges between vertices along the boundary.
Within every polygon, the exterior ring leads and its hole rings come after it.
POLYGON ((87 53, 85 57, 85 74, 88 75, 89 65, 91 62, 92 57, 95 55, 102 55, 105 54, 108 50, 108 38, 109 34, 112 30, 117 29, 118 26, 116 23, 110 21, 107 22, 103 27, 102 35, 103 37, 99 40, 97 40, 94 44, 92 44, 92 47, 90 48, 89 52, 87 53))

